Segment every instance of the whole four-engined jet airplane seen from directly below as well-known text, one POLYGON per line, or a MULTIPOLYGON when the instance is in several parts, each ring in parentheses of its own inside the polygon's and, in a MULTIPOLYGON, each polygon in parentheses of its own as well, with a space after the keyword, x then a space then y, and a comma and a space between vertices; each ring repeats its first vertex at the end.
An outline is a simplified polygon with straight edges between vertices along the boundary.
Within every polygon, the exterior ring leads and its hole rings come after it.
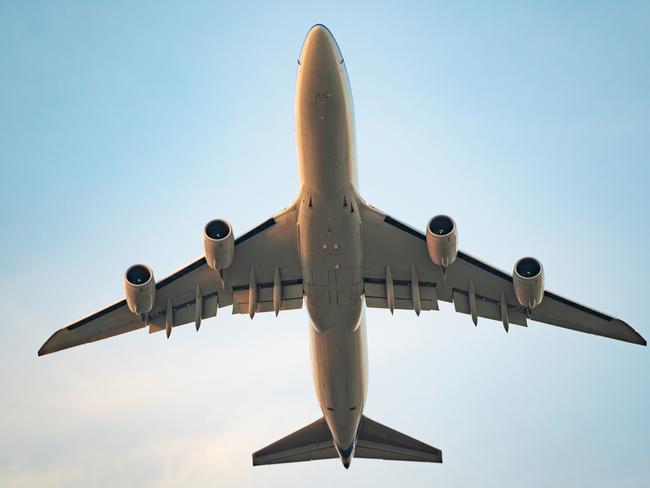
POLYGON ((366 417, 365 307, 457 312, 503 324, 544 322, 646 345, 632 327, 545 290, 544 269, 524 257, 512 275, 457 249, 454 220, 437 215, 421 232, 358 192, 354 111, 347 69, 332 33, 308 32, 298 60, 295 132, 300 189, 285 210, 234 237, 215 219, 205 255, 156 283, 146 265, 125 274, 126 298, 55 332, 39 356, 148 327, 169 338, 228 306, 233 314, 306 304, 316 395, 323 416, 253 454, 253 465, 353 457, 442 462, 442 452, 366 417), (364 307, 365 305, 365 307, 364 307))

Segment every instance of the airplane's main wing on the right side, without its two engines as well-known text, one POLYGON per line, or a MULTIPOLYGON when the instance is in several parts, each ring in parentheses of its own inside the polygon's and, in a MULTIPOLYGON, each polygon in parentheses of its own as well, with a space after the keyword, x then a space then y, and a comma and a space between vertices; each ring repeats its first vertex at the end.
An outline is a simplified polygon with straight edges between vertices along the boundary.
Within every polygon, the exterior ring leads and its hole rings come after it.
POLYGON ((438 300, 452 302, 457 312, 503 323, 526 326, 527 319, 645 346, 646 341, 620 319, 544 292, 542 303, 530 313, 522 307, 512 276, 458 251, 443 277, 429 258, 426 237, 418 230, 361 206, 364 240, 364 289, 368 307, 438 310, 438 300), (391 286, 392 283, 392 286, 391 286), (415 284, 415 285, 414 285, 415 284), (389 301, 390 295, 390 301, 389 301), (389 303, 390 302, 390 303, 389 303))

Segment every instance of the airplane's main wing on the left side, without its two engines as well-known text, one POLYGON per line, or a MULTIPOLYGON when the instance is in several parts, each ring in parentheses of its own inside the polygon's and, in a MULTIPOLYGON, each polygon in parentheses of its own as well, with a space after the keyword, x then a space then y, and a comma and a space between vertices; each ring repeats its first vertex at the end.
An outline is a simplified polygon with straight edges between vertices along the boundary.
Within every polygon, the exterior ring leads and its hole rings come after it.
MULTIPOLYGON (((280 310, 302 307, 302 272, 297 248, 297 208, 290 206, 235 240, 232 265, 219 274, 199 258, 156 283, 154 308, 149 314, 149 332, 196 323, 213 317, 217 310, 232 305, 232 313, 273 311, 273 288, 281 283, 280 310), (257 305, 249 310, 249 288, 256 288, 257 305), (197 302, 199 306, 197 307, 197 302), (200 316, 197 313, 200 312, 200 316)), ((141 329, 145 324, 132 313, 126 300, 110 305, 89 317, 56 331, 38 355, 106 339, 141 329)))

